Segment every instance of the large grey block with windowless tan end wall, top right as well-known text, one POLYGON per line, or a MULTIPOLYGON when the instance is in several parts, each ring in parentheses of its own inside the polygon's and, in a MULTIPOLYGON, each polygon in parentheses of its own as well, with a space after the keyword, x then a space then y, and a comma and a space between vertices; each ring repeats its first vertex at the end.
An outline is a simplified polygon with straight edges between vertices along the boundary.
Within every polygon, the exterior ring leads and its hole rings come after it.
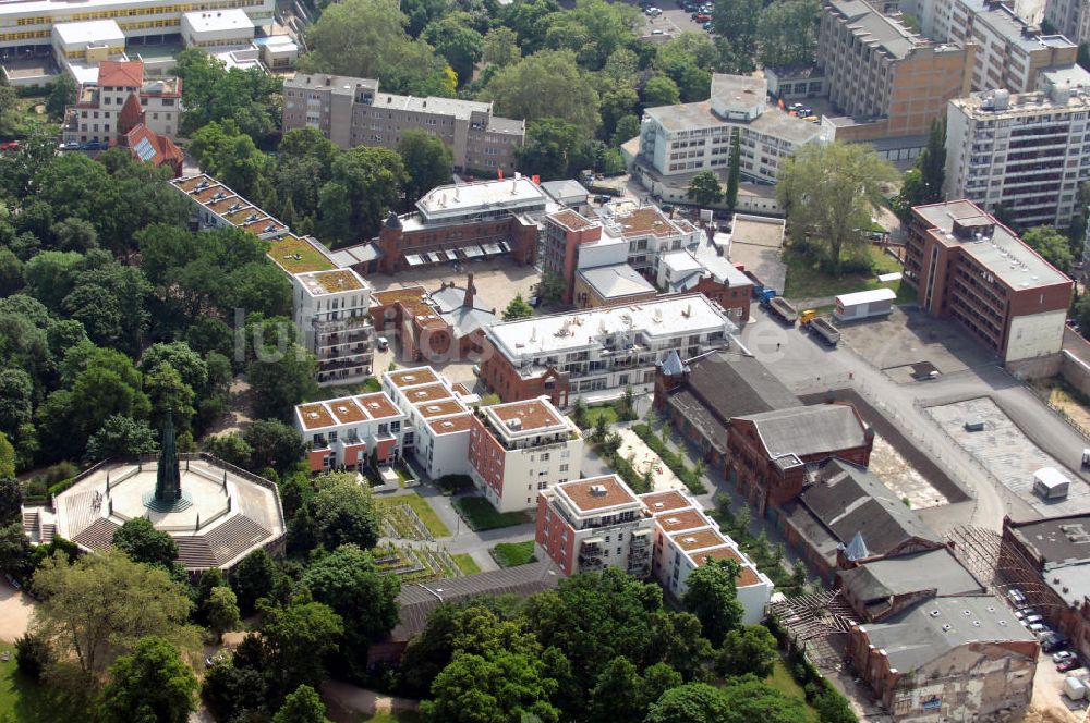
POLYGON ((845 117, 823 125, 836 139, 927 136, 946 102, 969 93, 971 46, 933 42, 865 0, 822 4, 818 63, 829 101, 845 117))

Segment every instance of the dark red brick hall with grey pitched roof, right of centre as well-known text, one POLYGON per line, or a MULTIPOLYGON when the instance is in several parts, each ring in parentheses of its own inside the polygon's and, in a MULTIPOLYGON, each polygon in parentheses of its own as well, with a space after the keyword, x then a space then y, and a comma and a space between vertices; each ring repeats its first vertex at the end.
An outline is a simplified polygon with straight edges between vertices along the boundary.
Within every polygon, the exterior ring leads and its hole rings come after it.
POLYGON ((836 457, 865 467, 874 432, 850 403, 736 416, 727 430, 726 477, 761 516, 797 498, 807 465, 836 457))

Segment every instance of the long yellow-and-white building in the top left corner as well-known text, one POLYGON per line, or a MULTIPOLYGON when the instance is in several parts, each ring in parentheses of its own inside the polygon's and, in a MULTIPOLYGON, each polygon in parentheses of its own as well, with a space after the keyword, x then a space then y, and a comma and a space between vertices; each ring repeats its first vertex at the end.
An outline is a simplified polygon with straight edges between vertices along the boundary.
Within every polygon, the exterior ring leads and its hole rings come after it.
MULTIPOLYGON (((114 21, 126 42, 175 39, 182 15, 241 9, 257 25, 270 25, 272 0, 201 0, 173 3, 168 0, 29 0, 0 3, 0 50, 22 54, 48 53, 52 29, 62 23, 114 21)), ((175 40, 177 41, 177 40, 175 40)))

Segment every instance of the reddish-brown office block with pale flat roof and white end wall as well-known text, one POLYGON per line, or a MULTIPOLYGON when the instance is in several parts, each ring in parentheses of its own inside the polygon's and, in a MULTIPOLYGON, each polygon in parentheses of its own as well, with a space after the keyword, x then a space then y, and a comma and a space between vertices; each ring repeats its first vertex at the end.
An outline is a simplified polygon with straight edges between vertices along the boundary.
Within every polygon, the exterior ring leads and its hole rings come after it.
POLYGON ((1071 280, 970 200, 917 206, 904 281, 1004 363, 1059 352, 1071 280))

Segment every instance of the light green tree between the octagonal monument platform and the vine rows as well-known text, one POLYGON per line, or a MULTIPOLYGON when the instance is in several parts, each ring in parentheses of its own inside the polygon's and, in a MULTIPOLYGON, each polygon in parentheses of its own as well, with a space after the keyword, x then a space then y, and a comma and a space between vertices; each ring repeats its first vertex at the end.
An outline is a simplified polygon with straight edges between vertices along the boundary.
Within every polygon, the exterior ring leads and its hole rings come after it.
POLYGON ((354 474, 325 475, 315 480, 313 514, 317 540, 327 550, 355 544, 370 550, 378 542, 380 515, 354 474))

